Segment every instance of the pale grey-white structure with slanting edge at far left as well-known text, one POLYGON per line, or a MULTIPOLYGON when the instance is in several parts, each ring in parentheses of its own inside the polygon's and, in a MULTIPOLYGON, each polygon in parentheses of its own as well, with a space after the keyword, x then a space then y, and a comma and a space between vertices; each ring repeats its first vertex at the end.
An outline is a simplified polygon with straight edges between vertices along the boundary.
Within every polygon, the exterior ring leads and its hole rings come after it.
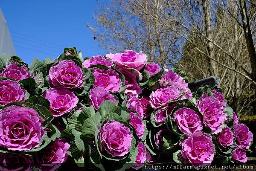
POLYGON ((15 55, 15 49, 12 43, 12 38, 7 27, 3 12, 0 9, 0 55, 7 53, 10 56, 15 55))

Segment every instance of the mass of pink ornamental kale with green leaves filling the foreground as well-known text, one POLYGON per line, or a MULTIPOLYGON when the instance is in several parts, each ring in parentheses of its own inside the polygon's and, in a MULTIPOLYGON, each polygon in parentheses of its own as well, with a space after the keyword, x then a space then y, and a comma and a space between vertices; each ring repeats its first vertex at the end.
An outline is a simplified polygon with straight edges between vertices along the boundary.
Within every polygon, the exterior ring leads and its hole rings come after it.
POLYGON ((140 169, 246 162, 253 134, 222 94, 143 52, 0 56, 0 170, 140 169), (63 167, 63 169, 65 169, 63 167))

